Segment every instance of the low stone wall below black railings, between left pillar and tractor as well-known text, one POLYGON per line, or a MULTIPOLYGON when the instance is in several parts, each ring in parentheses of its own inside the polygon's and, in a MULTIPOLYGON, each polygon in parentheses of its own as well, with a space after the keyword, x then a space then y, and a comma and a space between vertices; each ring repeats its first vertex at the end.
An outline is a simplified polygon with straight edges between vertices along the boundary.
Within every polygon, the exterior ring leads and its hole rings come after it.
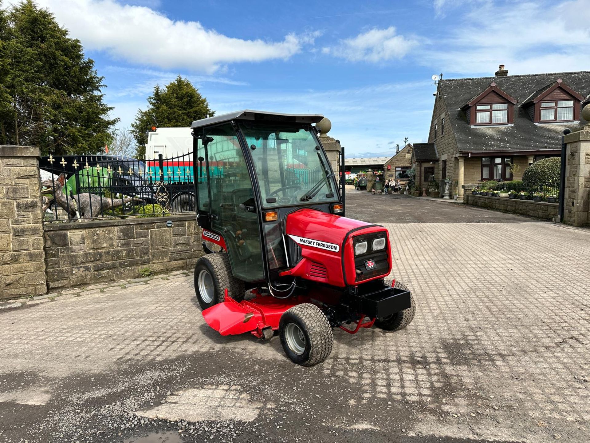
POLYGON ((203 255, 195 214, 46 224, 50 289, 191 269, 203 255), (166 226, 171 221, 172 226, 166 226))

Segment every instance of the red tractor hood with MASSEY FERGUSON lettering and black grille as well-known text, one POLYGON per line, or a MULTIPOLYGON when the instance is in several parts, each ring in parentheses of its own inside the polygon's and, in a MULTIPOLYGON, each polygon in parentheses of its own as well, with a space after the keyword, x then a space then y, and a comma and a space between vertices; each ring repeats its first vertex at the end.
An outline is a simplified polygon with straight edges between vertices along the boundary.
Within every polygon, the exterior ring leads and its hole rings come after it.
POLYGON ((287 216, 286 234, 290 247, 300 249, 295 255, 300 259, 281 275, 300 276, 343 287, 382 278, 391 271, 389 236, 382 226, 302 208, 287 216), (386 247, 380 253, 367 253, 369 268, 353 251, 353 242, 358 236, 365 236, 368 240, 372 240, 372 236, 386 239, 386 247))

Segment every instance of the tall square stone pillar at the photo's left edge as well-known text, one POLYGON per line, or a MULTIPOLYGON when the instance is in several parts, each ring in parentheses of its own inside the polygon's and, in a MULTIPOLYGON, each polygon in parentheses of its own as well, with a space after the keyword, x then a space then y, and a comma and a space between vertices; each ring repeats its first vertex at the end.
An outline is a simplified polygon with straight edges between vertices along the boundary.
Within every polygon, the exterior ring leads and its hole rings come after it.
POLYGON ((0 299, 47 292, 38 148, 0 145, 0 299))

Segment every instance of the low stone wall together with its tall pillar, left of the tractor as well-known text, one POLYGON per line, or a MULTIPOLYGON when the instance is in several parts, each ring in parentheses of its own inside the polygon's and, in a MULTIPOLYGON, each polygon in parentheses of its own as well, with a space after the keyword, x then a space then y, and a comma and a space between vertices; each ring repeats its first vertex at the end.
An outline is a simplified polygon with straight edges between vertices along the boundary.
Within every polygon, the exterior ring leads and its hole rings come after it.
POLYGON ((195 214, 43 224, 39 158, 0 145, 0 299, 189 270, 203 255, 195 214))

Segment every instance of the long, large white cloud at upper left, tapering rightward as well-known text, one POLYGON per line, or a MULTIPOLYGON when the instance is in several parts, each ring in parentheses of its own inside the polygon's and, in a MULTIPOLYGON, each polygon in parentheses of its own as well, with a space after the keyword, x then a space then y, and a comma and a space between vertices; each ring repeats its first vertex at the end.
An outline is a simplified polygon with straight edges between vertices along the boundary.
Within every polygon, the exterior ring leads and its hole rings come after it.
POLYGON ((87 50, 161 69, 214 73, 224 64, 287 59, 313 44, 319 32, 289 34, 282 41, 231 38, 198 21, 173 21, 147 6, 114 0, 37 0, 87 50))

